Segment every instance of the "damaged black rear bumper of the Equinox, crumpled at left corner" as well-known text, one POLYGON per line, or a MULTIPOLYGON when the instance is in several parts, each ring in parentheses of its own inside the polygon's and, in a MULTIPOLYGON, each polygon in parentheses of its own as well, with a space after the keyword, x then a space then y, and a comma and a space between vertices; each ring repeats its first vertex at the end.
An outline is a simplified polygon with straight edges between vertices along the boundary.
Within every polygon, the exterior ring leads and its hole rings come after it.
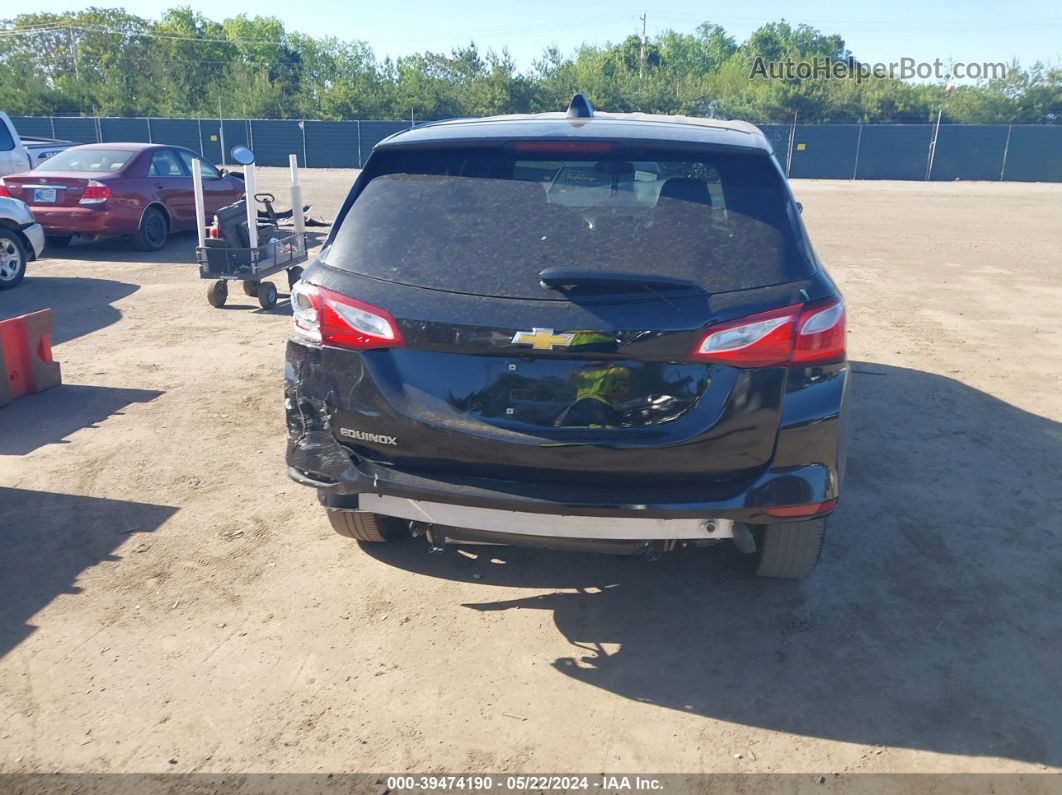
MULTIPOLYGON (((434 431, 410 421, 397 428, 384 424, 383 435, 393 436, 397 446, 352 439, 342 433, 346 427, 342 422, 371 427, 381 421, 381 413, 371 400, 336 410, 341 396, 365 395, 364 368, 336 366, 335 357, 346 353, 289 341, 285 366, 289 474, 316 487, 322 502, 331 507, 356 509, 357 496, 373 492, 543 514, 714 516, 769 523, 777 520, 763 514, 763 507, 822 502, 840 492, 846 364, 790 374, 769 466, 751 467, 736 477, 713 479, 691 470, 685 478, 672 473, 663 479, 637 469, 636 450, 616 456, 615 447, 606 445, 566 447, 572 468, 546 474, 534 463, 535 454, 544 451, 542 440, 535 445, 528 439, 527 447, 516 449, 504 443, 508 462, 499 457, 493 468, 469 473, 465 460, 482 459, 482 447, 489 447, 485 438, 455 434, 452 447, 440 450, 434 431), (425 455, 425 438, 432 442, 433 456, 425 455), (406 455, 396 453, 402 446, 406 455), (601 478, 594 466, 596 456, 630 461, 632 466, 614 478, 601 478), (584 466, 577 469, 580 462, 584 466)), ((545 452, 555 450, 545 448, 545 452)), ((674 454, 681 457, 681 447, 674 454)))

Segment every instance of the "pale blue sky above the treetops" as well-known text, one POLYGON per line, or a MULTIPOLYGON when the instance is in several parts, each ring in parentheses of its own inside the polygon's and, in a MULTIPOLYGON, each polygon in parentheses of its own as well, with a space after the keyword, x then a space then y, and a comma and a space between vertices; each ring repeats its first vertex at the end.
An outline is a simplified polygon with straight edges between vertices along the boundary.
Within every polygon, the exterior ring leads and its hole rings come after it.
MULTIPOLYGON (((767 21, 786 18, 825 33, 839 33, 855 55, 889 63, 901 57, 961 62, 1035 61, 1062 63, 1062 5, 1057 0, 966 0, 929 3, 810 3, 794 0, 722 0, 699 3, 670 0, 631 4, 626 0, 470 0, 442 2, 337 3, 329 0, 174 0, 215 19, 240 13, 276 16, 289 30, 314 36, 333 35, 369 41, 377 55, 423 50, 449 51, 475 40, 482 49, 508 47, 517 66, 527 68, 547 45, 563 51, 581 42, 617 41, 640 29, 648 15, 650 35, 668 28, 691 32, 709 19, 738 40, 767 21)), ((89 5, 121 5, 145 17, 158 15, 166 0, 34 0, 39 11, 71 11, 89 5)), ((29 6, 25 11, 29 11, 29 6)), ((8 12, 10 13, 10 12, 8 12)))

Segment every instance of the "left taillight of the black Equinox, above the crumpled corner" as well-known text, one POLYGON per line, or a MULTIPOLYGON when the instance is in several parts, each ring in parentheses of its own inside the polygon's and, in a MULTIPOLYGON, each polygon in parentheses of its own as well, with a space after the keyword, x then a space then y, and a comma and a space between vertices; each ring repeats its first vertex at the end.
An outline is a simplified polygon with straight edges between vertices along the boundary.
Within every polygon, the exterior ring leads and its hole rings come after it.
POLYGON ((402 345, 398 325, 384 310, 305 281, 291 289, 291 316, 296 334, 336 348, 402 345))

